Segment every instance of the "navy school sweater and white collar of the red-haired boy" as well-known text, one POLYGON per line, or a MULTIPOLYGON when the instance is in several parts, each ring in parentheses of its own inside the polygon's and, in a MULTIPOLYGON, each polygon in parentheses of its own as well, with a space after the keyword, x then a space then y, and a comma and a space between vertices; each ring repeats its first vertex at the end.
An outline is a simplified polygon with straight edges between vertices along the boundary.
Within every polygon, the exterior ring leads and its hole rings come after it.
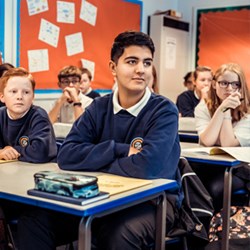
POLYGON ((44 109, 32 105, 22 118, 12 120, 2 107, 0 124, 0 148, 12 146, 21 154, 20 161, 56 161, 55 134, 44 109))

